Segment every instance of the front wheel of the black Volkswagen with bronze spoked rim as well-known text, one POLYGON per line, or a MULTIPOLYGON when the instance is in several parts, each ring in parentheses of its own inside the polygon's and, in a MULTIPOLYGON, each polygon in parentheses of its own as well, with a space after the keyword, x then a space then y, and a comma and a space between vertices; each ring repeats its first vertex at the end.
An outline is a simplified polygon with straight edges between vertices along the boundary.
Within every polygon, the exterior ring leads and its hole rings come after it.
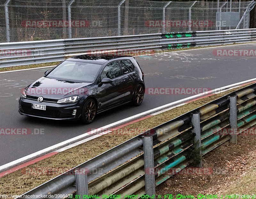
POLYGON ((81 122, 84 124, 92 123, 97 113, 96 102, 92 98, 86 100, 84 102, 82 115, 81 115, 81 122))

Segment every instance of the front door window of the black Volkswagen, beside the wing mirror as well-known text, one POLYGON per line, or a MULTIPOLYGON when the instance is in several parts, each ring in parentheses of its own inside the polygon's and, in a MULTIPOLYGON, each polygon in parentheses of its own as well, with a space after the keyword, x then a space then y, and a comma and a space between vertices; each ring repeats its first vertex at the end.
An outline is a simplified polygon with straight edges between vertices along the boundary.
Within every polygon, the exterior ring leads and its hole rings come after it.
POLYGON ((109 79, 114 79, 119 76, 121 76, 121 69, 119 66, 119 62, 114 61, 114 62, 109 63, 107 66, 105 66, 105 68, 103 69, 103 71, 100 75, 100 79, 103 79, 105 77, 107 77, 109 79))

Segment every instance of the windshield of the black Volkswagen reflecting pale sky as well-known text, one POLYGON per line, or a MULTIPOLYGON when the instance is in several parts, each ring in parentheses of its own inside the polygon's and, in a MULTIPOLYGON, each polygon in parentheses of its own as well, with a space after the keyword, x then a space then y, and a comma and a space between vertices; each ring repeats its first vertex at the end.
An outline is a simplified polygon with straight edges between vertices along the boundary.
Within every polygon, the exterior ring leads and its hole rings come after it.
POLYGON ((93 82, 100 70, 101 64, 92 64, 79 61, 63 61, 46 77, 74 82, 93 82))

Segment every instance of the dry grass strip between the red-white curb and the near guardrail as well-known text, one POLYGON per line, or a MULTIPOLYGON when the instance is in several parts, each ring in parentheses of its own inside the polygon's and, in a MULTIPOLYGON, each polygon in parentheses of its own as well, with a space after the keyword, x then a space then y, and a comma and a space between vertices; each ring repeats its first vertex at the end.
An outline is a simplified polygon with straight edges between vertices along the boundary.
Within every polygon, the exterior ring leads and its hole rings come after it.
MULTIPOLYGON (((202 98, 190 102, 186 105, 176 107, 172 110, 166 111, 159 115, 149 117, 137 123, 130 124, 128 126, 123 127, 122 129, 112 131, 111 133, 102 135, 96 139, 92 139, 84 144, 80 144, 59 154, 53 155, 52 157, 46 158, 26 168, 29 170, 37 170, 38 168, 71 169, 76 165, 81 164, 95 157, 96 155, 99 155, 107 151, 108 149, 123 143, 128 139, 131 139, 132 137, 142 133, 146 129, 151 129, 161 123, 167 122, 181 114, 184 114, 190 110, 193 110, 208 102, 211 102, 212 100, 216 100, 217 98, 220 98, 223 95, 236 91, 237 89, 239 88, 235 88, 227 92, 222 92, 206 98, 202 98), (132 129, 133 131, 131 131, 131 133, 127 133, 127 130, 129 129, 132 129), (141 132, 134 131, 134 129, 139 129, 141 130, 141 132), (124 133, 122 133, 122 131, 124 133), (116 136, 117 133, 118 136, 116 136)), ((24 173, 24 170, 26 170, 26 168, 15 171, 11 174, 8 174, 0 178, 0 194, 21 195, 58 175, 58 173, 43 173, 42 175, 26 174, 24 173)))

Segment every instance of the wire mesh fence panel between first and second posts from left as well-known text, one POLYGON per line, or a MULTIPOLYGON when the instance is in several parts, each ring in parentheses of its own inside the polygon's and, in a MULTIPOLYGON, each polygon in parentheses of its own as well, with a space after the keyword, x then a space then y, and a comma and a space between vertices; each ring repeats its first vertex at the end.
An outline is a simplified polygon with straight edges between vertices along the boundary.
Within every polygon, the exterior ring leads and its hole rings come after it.
POLYGON ((19 1, 9 3, 11 41, 68 38, 67 2, 19 1))

